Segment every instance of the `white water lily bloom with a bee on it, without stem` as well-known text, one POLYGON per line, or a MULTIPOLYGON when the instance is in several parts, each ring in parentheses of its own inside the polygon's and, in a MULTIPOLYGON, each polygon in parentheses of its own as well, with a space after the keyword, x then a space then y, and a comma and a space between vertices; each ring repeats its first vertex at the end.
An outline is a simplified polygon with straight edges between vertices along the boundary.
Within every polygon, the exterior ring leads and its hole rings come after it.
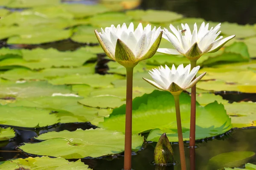
POLYGON ((193 32, 190 31, 188 24, 181 24, 181 27, 183 30, 180 30, 179 27, 176 29, 170 24, 173 34, 166 28, 163 30, 163 38, 171 42, 176 49, 159 48, 157 52, 169 55, 184 55, 189 59, 198 59, 204 53, 218 51, 224 44, 236 36, 231 35, 224 39, 220 36, 216 39, 221 34, 221 31, 218 31, 221 28, 221 23, 209 30, 209 23, 205 25, 203 22, 199 30, 195 23, 193 32), (182 35, 182 32, 184 32, 184 35, 182 35))

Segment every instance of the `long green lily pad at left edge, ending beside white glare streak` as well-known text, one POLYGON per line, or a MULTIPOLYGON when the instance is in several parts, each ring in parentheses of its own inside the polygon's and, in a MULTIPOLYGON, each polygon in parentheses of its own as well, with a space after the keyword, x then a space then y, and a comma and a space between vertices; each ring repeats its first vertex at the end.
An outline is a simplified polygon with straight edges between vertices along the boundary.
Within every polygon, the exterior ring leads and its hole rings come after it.
POLYGON ((51 85, 47 82, 1 82, 0 97, 37 97, 52 96, 54 93, 70 94, 71 88, 65 85, 51 85))

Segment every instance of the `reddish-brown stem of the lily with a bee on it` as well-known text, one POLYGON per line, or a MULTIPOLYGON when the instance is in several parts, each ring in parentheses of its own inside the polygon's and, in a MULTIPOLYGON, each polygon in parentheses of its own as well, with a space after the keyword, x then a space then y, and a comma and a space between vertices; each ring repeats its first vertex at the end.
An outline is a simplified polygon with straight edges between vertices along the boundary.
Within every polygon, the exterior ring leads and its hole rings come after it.
MULTIPOLYGON (((191 70, 196 67, 196 60, 190 61, 191 70)), ((195 77, 194 77, 195 79, 195 77)), ((195 170, 195 102, 196 86, 191 88, 191 111, 190 111, 190 134, 189 134, 189 152, 190 152, 190 170, 195 170)))

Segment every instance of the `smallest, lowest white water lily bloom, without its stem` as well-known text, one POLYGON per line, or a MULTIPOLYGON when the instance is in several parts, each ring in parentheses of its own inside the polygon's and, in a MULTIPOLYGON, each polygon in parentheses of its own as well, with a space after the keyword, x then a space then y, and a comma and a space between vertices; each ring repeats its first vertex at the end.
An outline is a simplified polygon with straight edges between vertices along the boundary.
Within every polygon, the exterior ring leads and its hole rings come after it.
POLYGON ((185 68, 181 64, 177 67, 177 70, 175 65, 172 65, 172 69, 167 65, 165 68, 161 65, 158 70, 155 68, 153 71, 149 71, 154 81, 143 79, 160 90, 179 93, 184 89, 192 88, 206 74, 205 72, 192 81, 200 66, 196 66, 191 71, 190 68, 190 64, 185 68))

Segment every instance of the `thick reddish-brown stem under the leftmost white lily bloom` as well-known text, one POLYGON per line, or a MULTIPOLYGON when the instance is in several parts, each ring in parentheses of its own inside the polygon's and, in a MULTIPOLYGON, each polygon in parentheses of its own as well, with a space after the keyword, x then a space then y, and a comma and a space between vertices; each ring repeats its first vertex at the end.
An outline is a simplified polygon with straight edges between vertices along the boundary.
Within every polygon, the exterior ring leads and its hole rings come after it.
POLYGON ((132 77, 134 68, 126 68, 125 161, 124 170, 131 170, 132 77))

